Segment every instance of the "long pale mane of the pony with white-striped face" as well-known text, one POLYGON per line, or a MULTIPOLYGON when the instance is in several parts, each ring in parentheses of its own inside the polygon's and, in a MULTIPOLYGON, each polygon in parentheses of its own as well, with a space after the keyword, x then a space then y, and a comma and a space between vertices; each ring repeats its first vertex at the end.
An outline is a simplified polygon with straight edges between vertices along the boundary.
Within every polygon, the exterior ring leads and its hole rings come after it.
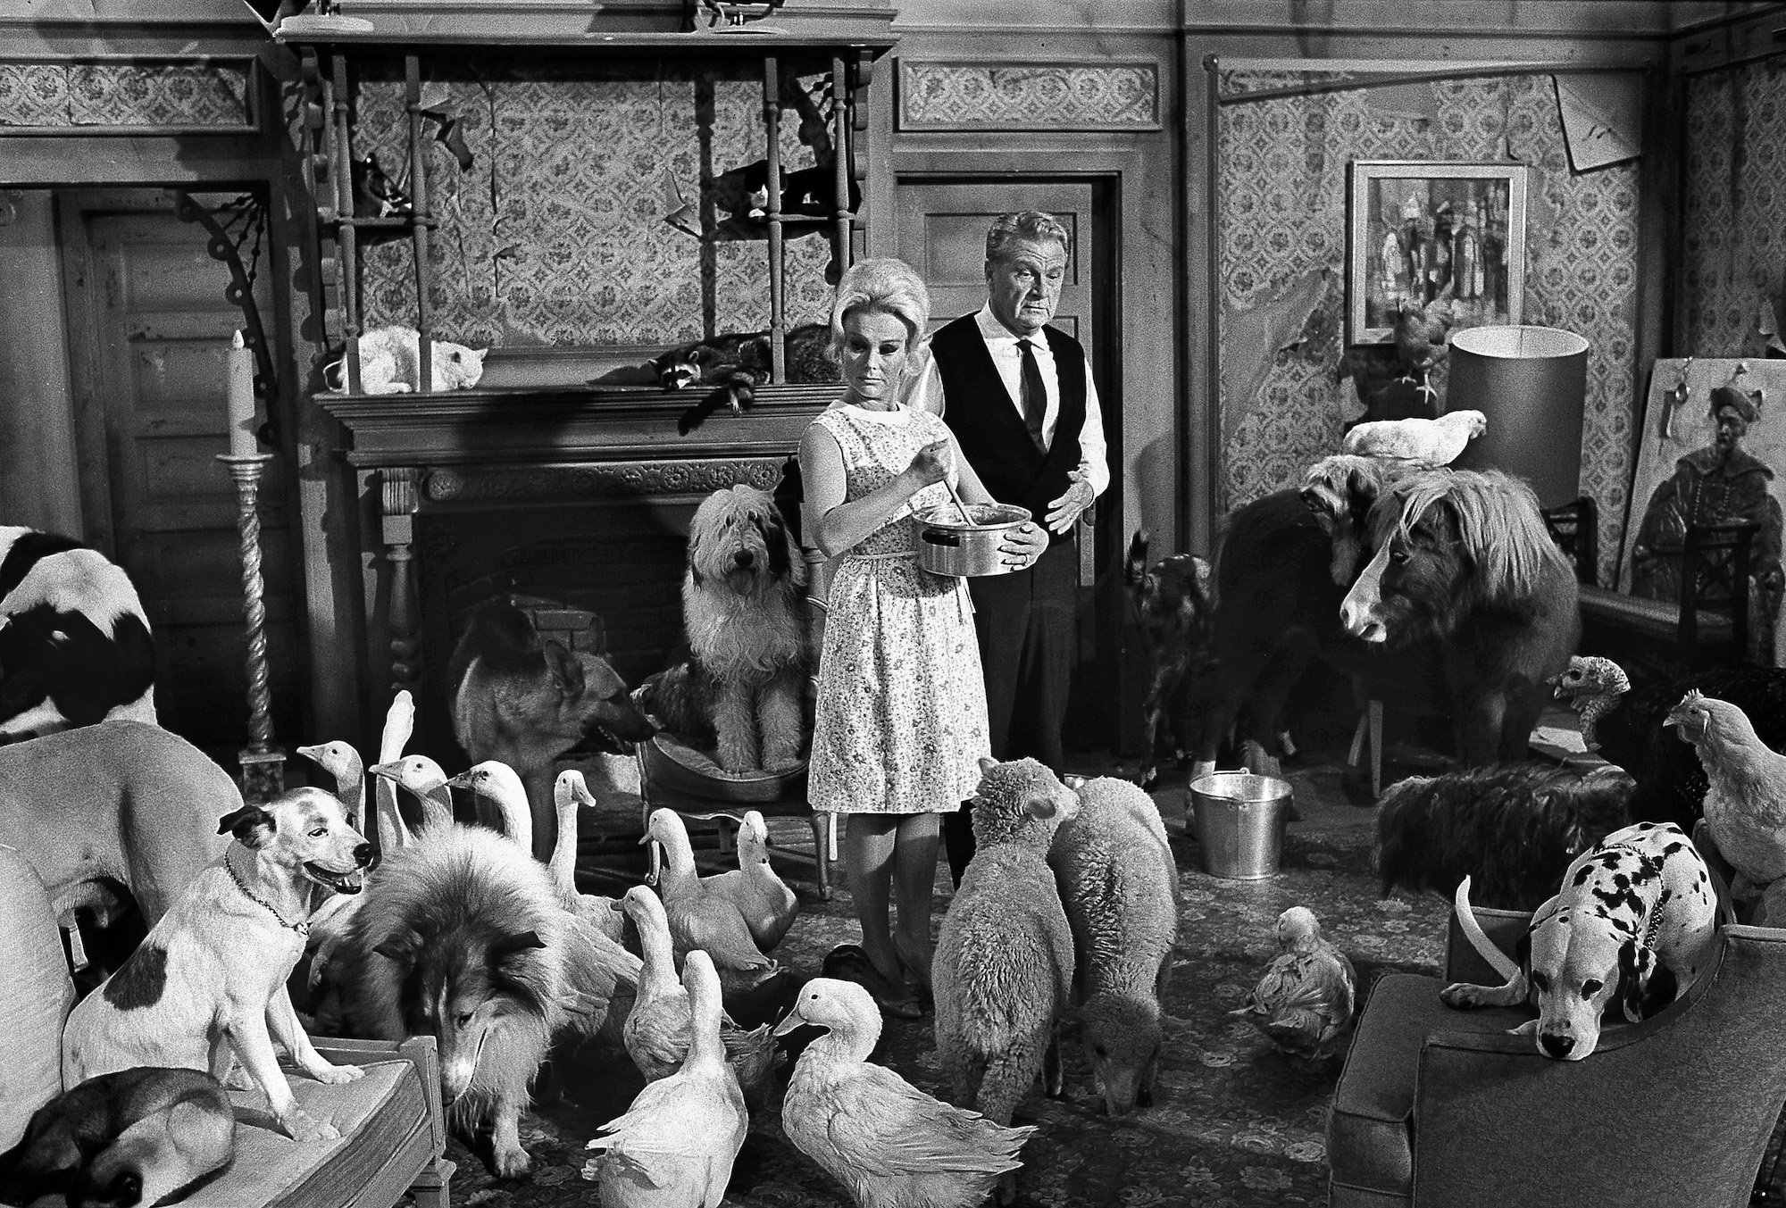
POLYGON ((1445 500, 1457 516, 1457 538, 1477 568, 1482 600, 1529 599, 1538 591, 1545 568, 1568 572, 1563 550, 1538 511, 1538 497, 1525 482, 1500 470, 1425 470, 1390 488, 1372 516, 1372 536, 1381 547, 1390 525, 1409 538, 1427 508, 1445 500))

